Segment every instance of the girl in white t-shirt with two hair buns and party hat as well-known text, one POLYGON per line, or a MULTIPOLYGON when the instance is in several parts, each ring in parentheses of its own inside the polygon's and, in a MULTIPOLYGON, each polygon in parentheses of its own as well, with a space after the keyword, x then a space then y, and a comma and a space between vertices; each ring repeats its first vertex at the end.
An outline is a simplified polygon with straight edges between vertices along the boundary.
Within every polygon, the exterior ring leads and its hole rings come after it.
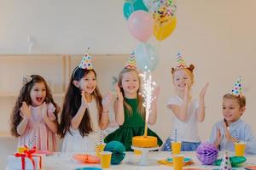
POLYGON ((191 87, 194 83, 194 65, 185 64, 181 54, 177 54, 177 67, 172 68, 172 80, 176 89, 176 95, 169 99, 167 107, 174 114, 171 136, 166 139, 162 150, 171 150, 171 142, 182 142, 182 151, 196 150, 200 144, 197 122, 203 122, 205 118, 205 94, 208 83, 201 90, 199 102, 192 99, 191 87))

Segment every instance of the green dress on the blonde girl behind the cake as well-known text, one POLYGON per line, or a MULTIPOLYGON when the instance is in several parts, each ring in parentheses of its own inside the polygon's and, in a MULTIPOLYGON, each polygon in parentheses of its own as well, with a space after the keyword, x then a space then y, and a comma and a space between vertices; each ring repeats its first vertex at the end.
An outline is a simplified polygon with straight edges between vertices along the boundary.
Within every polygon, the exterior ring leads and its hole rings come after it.
MULTIPOLYGON (((141 116, 137 112, 137 99, 125 99, 125 102, 128 105, 131 105, 132 114, 129 115, 128 110, 125 109, 124 124, 120 126, 117 130, 115 130, 113 133, 108 134, 108 136, 105 138, 105 142, 108 143, 110 141, 117 140, 125 145, 126 151, 132 151, 131 150, 132 137, 143 136, 145 121, 143 116, 141 116)), ((157 137, 157 143, 159 146, 163 144, 160 137, 149 128, 148 128, 148 136, 157 137)))

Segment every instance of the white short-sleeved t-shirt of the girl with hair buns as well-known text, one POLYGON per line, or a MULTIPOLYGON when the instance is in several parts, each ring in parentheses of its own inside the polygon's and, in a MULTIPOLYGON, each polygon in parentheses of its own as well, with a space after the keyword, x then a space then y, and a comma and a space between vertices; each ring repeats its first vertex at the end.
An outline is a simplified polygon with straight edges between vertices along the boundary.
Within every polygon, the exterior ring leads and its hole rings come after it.
MULTIPOLYGON (((179 105, 183 104, 183 99, 180 97, 173 96, 168 100, 167 105, 179 105)), ((188 120, 186 122, 180 121, 176 116, 174 116, 172 120, 172 133, 170 135, 171 139, 175 139, 175 130, 177 131, 177 140, 183 142, 193 142, 197 143, 200 142, 198 136, 198 127, 197 127, 197 120, 196 120, 196 110, 199 107, 198 100, 192 99, 189 101, 188 105, 188 120)))

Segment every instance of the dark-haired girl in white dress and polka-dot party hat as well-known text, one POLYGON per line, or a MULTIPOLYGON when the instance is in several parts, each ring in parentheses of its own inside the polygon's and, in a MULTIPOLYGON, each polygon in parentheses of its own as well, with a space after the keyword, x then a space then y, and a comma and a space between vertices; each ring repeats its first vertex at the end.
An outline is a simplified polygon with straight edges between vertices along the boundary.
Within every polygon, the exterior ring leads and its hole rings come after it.
POLYGON ((102 99, 90 59, 90 54, 84 55, 67 88, 59 131, 64 138, 62 151, 94 151, 101 130, 108 127, 111 94, 102 99))

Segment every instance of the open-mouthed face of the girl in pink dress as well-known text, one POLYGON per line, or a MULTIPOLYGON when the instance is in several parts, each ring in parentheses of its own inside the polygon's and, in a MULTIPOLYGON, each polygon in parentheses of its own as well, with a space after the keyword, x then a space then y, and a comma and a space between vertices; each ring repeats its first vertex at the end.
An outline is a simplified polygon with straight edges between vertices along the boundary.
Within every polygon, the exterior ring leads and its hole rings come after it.
POLYGON ((42 105, 46 96, 46 88, 44 82, 35 82, 31 91, 30 98, 32 100, 32 106, 42 105))

